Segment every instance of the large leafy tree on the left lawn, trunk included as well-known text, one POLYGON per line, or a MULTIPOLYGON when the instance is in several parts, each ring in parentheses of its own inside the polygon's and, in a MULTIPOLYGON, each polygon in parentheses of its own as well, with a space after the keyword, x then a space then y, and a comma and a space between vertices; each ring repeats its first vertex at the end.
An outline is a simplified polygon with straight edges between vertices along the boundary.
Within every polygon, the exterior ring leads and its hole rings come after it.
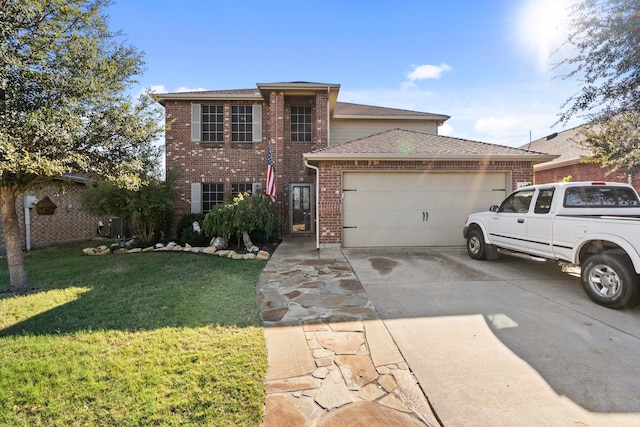
POLYGON ((27 288, 18 194, 69 172, 144 182, 162 131, 126 91, 142 55, 110 32, 111 0, 0 0, 0 217, 11 286, 27 288))

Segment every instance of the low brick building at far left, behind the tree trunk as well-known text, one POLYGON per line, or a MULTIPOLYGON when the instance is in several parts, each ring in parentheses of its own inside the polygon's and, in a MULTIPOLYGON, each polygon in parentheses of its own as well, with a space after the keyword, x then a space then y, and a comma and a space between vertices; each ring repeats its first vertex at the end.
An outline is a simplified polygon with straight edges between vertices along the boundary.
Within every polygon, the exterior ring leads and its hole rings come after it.
MULTIPOLYGON (((102 219, 105 222, 107 220, 88 214, 79 208, 77 198, 84 191, 85 186, 84 178, 69 175, 20 194, 16 200, 16 213, 20 223, 22 246, 38 247, 98 237, 96 232, 98 220, 102 219), (40 209, 33 207, 26 213, 24 209, 26 196, 33 196, 36 202, 43 202, 40 204, 40 209), (44 206, 48 201, 52 205, 44 206), (55 209, 53 209, 54 205, 55 209), (39 214, 38 210, 46 214, 39 214), (26 219, 29 220, 28 227, 25 226, 26 219), (27 244, 27 237, 29 237, 29 244, 27 244)), ((0 227, 0 250, 4 251, 4 248, 4 234, 0 227)))

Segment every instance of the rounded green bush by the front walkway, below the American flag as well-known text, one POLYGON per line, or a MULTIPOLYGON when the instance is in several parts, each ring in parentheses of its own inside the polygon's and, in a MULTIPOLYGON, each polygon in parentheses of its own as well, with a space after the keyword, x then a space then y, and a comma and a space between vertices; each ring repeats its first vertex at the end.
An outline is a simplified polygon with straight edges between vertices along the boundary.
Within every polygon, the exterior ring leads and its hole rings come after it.
POLYGON ((207 236, 220 236, 227 242, 233 237, 239 244, 247 232, 266 243, 278 236, 278 215, 275 204, 264 194, 244 193, 231 204, 216 205, 205 216, 202 229, 207 236))

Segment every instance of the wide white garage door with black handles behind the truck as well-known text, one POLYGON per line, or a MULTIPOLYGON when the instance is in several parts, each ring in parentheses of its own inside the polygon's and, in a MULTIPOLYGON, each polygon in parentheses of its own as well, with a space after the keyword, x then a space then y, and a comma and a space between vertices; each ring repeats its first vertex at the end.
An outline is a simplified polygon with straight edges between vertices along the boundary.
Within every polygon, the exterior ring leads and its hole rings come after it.
POLYGON ((345 172, 343 245, 459 246, 467 215, 507 195, 504 172, 345 172))

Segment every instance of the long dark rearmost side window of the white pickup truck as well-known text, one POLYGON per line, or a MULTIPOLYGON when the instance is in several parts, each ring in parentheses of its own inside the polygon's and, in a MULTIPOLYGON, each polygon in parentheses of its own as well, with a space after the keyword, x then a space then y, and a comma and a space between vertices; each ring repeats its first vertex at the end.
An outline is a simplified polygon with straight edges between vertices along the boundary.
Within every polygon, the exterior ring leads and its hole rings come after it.
POLYGON ((570 208, 628 208, 640 206, 638 196, 626 187, 571 187, 564 195, 570 208))

